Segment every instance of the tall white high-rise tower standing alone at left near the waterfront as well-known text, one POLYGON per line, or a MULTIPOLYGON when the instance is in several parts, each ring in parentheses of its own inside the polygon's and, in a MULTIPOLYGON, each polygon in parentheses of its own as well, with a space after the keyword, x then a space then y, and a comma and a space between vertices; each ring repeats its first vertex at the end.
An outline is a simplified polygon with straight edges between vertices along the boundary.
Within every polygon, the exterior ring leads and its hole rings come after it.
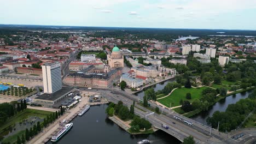
POLYGON ((44 93, 54 93, 62 88, 60 62, 42 65, 44 93))

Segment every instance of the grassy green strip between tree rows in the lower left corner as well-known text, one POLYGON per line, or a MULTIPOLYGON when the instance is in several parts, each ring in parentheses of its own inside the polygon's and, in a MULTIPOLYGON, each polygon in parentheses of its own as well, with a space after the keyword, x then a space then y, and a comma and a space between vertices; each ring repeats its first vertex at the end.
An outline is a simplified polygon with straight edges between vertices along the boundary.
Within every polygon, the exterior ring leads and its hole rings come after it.
POLYGON ((53 112, 34 110, 34 109, 26 109, 26 110, 24 110, 22 112, 18 112, 15 116, 9 118, 7 120, 7 122, 5 122, 0 127, 0 131, 2 131, 3 129, 9 127, 10 125, 15 124, 16 122, 21 122, 22 119, 26 119, 28 116, 37 116, 37 117, 40 117, 40 118, 46 118, 51 113, 53 113, 53 112))

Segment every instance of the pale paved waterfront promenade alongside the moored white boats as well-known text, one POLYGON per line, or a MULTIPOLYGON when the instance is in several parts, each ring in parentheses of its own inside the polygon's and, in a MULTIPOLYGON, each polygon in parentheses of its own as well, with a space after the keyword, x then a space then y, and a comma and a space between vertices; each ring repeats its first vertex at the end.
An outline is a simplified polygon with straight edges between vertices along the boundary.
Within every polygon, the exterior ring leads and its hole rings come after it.
MULTIPOLYGON (((82 93, 82 95, 83 94, 84 94, 84 92, 82 93)), ((44 128, 41 133, 36 135, 32 140, 28 141, 27 143, 28 144, 44 143, 43 141, 45 141, 45 139, 48 139, 48 137, 53 135, 55 133, 55 131, 60 127, 59 122, 63 121, 63 119, 69 119, 73 115, 75 115, 75 113, 80 111, 82 109, 82 107, 88 103, 88 99, 89 99, 88 97, 82 97, 82 99, 81 99, 82 101, 76 107, 74 107, 73 109, 66 112, 63 116, 61 116, 59 119, 57 119, 57 121, 50 124, 49 127, 44 128)), ((75 125, 74 125, 74 127, 75 127, 75 125)))

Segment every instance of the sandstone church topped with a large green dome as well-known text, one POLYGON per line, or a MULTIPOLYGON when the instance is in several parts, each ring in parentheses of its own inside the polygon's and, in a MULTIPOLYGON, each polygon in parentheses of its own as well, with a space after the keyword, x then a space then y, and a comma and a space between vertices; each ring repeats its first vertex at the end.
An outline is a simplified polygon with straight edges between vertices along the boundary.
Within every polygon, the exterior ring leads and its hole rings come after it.
POLYGON ((113 48, 112 53, 108 54, 108 65, 110 68, 124 67, 124 56, 117 46, 113 48))

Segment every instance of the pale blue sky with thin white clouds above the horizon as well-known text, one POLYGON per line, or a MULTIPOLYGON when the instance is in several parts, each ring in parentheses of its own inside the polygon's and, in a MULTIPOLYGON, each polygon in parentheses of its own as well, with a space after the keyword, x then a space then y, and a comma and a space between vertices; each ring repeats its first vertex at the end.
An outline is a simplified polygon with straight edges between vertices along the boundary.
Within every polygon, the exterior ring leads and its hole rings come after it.
POLYGON ((256 0, 0 0, 0 23, 251 29, 256 0))

